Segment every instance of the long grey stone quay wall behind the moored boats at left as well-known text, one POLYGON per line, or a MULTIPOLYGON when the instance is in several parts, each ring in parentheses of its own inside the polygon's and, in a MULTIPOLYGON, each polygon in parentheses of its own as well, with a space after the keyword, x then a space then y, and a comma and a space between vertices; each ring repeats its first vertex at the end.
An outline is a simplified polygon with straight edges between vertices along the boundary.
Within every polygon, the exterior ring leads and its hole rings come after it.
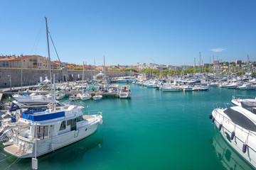
MULTIPOLYGON (((23 69, 23 86, 37 84, 40 77, 43 80, 48 77, 50 79, 50 72, 48 69, 23 69)), ((55 81, 76 81, 82 79, 82 70, 52 70, 55 74, 55 81)), ((85 79, 92 79, 93 76, 100 73, 100 71, 85 71, 85 79)), ((134 76, 134 72, 102 72, 107 77, 126 77, 134 76)), ((0 68, 0 86, 21 86, 21 69, 14 68, 0 68)))

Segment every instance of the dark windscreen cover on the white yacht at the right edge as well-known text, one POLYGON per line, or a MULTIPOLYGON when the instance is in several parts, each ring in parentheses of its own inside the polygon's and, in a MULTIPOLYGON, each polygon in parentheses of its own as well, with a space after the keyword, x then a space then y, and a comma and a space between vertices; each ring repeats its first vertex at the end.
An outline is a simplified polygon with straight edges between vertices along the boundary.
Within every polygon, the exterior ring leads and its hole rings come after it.
POLYGON ((247 130, 251 130, 253 132, 256 132, 256 125, 252 122, 249 118, 247 118, 242 113, 233 110, 232 108, 228 108, 224 111, 226 115, 235 123, 236 125, 240 125, 242 128, 245 128, 247 130))

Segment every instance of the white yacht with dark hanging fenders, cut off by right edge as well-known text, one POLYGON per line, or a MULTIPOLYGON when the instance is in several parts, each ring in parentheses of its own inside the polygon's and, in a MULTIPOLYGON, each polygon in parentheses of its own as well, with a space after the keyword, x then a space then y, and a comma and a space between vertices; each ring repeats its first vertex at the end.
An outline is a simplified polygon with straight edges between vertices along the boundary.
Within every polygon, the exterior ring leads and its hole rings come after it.
POLYGON ((209 118, 221 135, 242 158, 256 168, 255 106, 215 108, 209 118))

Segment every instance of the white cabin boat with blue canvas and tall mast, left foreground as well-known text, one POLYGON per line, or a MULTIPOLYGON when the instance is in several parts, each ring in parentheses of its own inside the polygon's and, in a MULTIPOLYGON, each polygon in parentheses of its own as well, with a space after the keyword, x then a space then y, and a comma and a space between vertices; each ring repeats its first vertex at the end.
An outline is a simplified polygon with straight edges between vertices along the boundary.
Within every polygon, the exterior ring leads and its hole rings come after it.
MULTIPOLYGON (((47 18, 46 33, 48 40, 47 18)), ((48 57, 50 68, 49 42, 48 57)), ((55 83, 54 75, 53 83, 55 83)), ((47 108, 26 108, 17 105, 16 115, 19 126, 13 129, 10 145, 4 147, 5 152, 19 158, 36 158, 92 135, 97 130, 97 126, 102 124, 102 112, 84 115, 83 106, 56 106, 55 84, 51 86, 51 93, 52 102, 47 108)))

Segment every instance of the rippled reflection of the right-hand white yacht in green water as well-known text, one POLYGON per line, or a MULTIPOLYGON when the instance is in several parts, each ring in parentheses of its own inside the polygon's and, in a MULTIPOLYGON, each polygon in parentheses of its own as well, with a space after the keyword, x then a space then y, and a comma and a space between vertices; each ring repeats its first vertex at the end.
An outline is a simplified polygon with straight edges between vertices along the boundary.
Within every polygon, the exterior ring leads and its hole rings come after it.
POLYGON ((213 137, 214 151, 225 169, 253 169, 233 148, 225 142, 218 130, 213 137))

